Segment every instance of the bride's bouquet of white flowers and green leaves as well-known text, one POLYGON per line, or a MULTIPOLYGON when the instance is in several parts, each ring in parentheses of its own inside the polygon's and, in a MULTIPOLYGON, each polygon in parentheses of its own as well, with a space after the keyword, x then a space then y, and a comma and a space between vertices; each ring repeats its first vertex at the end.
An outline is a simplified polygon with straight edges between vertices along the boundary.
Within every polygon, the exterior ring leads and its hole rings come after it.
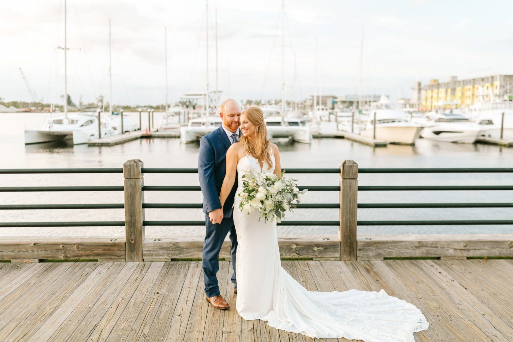
POLYGON ((284 177, 284 173, 281 178, 271 172, 245 173, 242 176, 243 191, 239 193, 241 211, 250 215, 256 209, 261 213, 259 221, 262 217, 267 223, 276 217, 279 223, 285 211, 297 207, 299 197, 307 191, 299 191, 295 179, 284 177))

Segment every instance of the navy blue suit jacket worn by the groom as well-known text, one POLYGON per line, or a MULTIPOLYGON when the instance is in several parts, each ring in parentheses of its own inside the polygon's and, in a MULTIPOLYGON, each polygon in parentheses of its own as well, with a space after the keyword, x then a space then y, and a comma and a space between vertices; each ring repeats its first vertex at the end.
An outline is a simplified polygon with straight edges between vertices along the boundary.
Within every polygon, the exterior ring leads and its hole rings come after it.
MULTIPOLYGON (((239 129, 239 136, 241 131, 239 129)), ((200 140, 200 157, 198 162, 198 175, 200 177, 201 191, 203 192, 203 212, 220 209, 221 187, 226 175, 226 152, 231 146, 223 126, 204 135, 200 140)), ((238 178, 224 205, 224 216, 231 217, 235 192, 239 186, 238 178)))

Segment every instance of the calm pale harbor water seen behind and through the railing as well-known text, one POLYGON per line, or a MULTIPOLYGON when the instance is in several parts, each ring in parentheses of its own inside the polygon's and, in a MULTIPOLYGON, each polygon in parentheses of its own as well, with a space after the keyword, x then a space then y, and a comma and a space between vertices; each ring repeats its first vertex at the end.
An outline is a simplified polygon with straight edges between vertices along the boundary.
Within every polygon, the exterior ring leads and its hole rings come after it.
MULTIPOLYGON (((137 113, 131 113, 139 123, 137 113)), ((155 125, 161 113, 155 113, 155 125)), ((43 126, 49 114, 0 113, 0 168, 120 168, 140 159, 148 168, 198 167, 199 144, 179 138, 137 139, 113 147, 45 143, 24 145, 24 128, 43 126)), ((143 113, 143 130, 148 125, 143 113)), ((451 144, 419 139, 415 146, 372 148, 345 139, 313 139, 312 144, 279 144, 282 168, 338 168, 352 159, 363 168, 513 167, 513 148, 451 144)), ((295 174, 300 185, 337 186, 337 174, 295 174)), ((145 185, 198 185, 197 174, 147 174, 145 185)), ((0 186, 123 185, 122 174, 5 174, 0 186)), ((513 185, 509 173, 361 174, 359 185, 513 185)), ((513 202, 513 191, 361 191, 359 203, 490 203, 513 202)), ((201 192, 146 192, 147 203, 201 203, 201 192)), ((307 192, 303 203, 337 203, 338 192, 307 192)), ((122 192, 4 192, 0 204, 123 203, 122 192)), ((1 222, 123 220, 123 209, 0 210, 1 222)), ((146 220, 203 220, 200 209, 147 209, 146 220)), ((513 208, 359 209, 359 220, 511 219, 513 208)), ((298 209, 287 220, 338 220, 336 209, 298 209)), ((337 227, 279 227, 279 236, 337 234, 337 227)), ((513 226, 359 227, 358 234, 506 234, 513 226)), ((147 227, 147 237, 201 239, 204 227, 147 227)), ((123 227, 0 228, 0 236, 121 237, 123 227)))

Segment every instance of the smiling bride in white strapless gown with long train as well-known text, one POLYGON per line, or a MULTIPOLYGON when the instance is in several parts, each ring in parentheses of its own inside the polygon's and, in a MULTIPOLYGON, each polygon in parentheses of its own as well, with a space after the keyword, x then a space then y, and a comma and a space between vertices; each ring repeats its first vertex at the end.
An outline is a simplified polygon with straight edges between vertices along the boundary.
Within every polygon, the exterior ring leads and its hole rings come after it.
POLYGON ((239 241, 236 308, 241 317, 260 319, 272 328, 312 338, 413 341, 414 332, 429 326, 415 306, 384 290, 307 291, 281 267, 276 221, 264 223, 257 210, 247 215, 239 208, 243 174, 281 175, 278 147, 267 138, 260 108, 243 111, 240 125, 240 144, 231 145, 226 155, 220 200, 224 206, 238 174, 233 219, 239 241))

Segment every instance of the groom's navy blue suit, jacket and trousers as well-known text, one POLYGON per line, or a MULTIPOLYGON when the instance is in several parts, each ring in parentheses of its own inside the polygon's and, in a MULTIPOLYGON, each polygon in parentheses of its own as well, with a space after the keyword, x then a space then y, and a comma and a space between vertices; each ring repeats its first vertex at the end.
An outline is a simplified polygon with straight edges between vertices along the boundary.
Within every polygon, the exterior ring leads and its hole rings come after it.
MULTIPOLYGON (((240 130, 239 130, 240 136, 240 130)), ((205 293, 207 297, 220 295, 218 277, 219 271, 219 252, 223 242, 230 232, 231 240, 231 260, 233 265, 233 276, 231 281, 237 287, 235 277, 235 260, 237 252, 237 233, 233 224, 233 202, 235 192, 238 187, 238 181, 235 178, 235 184, 230 195, 226 199, 223 207, 224 218, 221 224, 212 224, 208 213, 221 208, 219 196, 221 187, 226 175, 226 152, 232 142, 228 139, 223 126, 219 129, 203 136, 200 140, 200 158, 198 163, 198 173, 200 176, 201 191, 203 192, 203 212, 205 213, 205 224, 207 235, 205 236, 205 245, 203 246, 203 272, 205 276, 205 293)))

